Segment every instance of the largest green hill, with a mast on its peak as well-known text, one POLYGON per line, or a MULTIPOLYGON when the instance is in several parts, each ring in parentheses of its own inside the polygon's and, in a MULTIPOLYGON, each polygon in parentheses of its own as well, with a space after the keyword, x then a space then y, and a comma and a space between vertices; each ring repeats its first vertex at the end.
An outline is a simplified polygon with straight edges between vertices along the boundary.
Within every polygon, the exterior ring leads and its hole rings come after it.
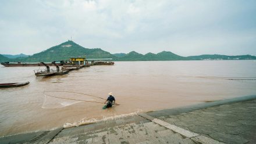
POLYGON ((115 58, 111 53, 102 49, 87 49, 73 41, 66 41, 29 57, 13 59, 16 62, 52 62, 53 60, 69 60, 70 57, 86 56, 87 59, 115 58))

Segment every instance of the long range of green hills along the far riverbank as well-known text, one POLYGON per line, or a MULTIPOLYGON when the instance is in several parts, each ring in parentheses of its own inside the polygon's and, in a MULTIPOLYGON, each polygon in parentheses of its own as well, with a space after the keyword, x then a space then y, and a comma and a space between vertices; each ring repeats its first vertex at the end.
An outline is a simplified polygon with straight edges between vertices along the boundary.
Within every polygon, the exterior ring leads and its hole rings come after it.
POLYGON ((69 60, 70 57, 86 56, 87 59, 106 59, 114 61, 138 61, 138 60, 249 60, 256 59, 256 56, 240 55, 200 55, 200 56, 179 56, 172 52, 147 53, 142 55, 137 52, 115 53, 103 51, 100 48, 88 49, 73 41, 66 41, 60 45, 53 46, 32 56, 20 55, 0 55, 0 62, 52 62, 54 60, 69 60))

